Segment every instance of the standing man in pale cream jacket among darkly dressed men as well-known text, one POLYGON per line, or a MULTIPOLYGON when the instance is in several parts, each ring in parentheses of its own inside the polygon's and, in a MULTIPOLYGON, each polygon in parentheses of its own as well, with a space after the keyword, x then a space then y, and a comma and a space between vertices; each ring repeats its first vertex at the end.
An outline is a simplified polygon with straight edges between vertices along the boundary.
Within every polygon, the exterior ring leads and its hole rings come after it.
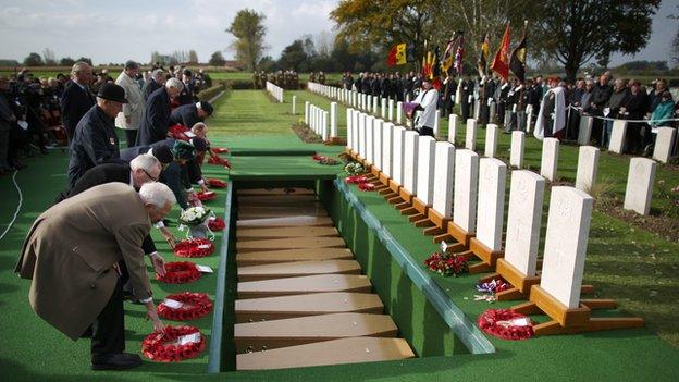
POLYGON ((127 103, 123 104, 123 111, 118 114, 115 125, 125 131, 127 147, 135 145, 137 130, 144 112, 144 96, 137 85, 136 76, 139 73, 139 64, 134 61, 125 63, 125 70, 115 79, 115 84, 125 89, 127 103))

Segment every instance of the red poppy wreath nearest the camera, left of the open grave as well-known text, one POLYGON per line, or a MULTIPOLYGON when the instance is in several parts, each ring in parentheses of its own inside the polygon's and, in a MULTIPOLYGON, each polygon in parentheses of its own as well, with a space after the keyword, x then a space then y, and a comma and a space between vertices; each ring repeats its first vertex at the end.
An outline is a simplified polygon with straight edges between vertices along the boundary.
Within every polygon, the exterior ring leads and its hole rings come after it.
POLYGON ((177 362, 195 358, 205 350, 205 335, 194 326, 165 326, 162 332, 153 332, 141 341, 141 354, 148 359, 159 362, 177 362), (199 336, 197 342, 181 338, 192 334, 199 336))

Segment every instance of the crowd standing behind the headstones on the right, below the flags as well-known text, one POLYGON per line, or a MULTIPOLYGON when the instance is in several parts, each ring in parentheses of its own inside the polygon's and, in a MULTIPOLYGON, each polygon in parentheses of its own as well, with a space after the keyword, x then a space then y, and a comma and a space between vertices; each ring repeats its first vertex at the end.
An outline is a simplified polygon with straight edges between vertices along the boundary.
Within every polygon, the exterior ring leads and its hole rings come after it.
MULTIPOLYGON (((345 89, 402 102, 416 100, 425 82, 421 73, 415 72, 365 72, 357 78, 345 72, 342 76, 345 89)), ((496 123, 507 133, 526 131, 530 114, 531 124, 543 127, 544 136, 577 140, 581 118, 593 116, 591 140, 602 148, 608 147, 613 120, 628 120, 625 151, 635 155, 650 155, 656 127, 679 126, 675 121, 679 118, 679 100, 674 100, 663 78, 646 87, 638 79, 613 78, 609 72, 598 77, 580 77, 575 83, 541 75, 524 83, 496 75, 464 76, 441 81, 435 95, 441 116, 449 115, 459 103, 462 121, 477 116, 480 125, 496 123)))

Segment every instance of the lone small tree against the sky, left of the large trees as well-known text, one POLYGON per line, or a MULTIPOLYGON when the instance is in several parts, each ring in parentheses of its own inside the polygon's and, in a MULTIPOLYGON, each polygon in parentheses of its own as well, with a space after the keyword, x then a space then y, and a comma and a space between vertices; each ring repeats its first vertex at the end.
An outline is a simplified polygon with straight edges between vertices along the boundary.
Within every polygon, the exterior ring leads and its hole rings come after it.
POLYGON ((231 50, 236 53, 236 60, 244 63, 249 71, 257 69, 257 63, 267 49, 264 45, 267 27, 263 25, 266 17, 263 13, 244 9, 238 11, 231 26, 226 29, 227 33, 236 37, 236 40, 230 46, 231 50))

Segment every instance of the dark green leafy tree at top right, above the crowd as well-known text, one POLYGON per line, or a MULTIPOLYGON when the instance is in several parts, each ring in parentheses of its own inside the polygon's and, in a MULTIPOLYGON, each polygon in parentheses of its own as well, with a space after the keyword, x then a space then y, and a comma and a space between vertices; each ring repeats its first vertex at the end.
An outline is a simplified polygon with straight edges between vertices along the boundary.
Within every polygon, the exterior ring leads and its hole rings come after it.
POLYGON ((607 64, 610 54, 632 54, 646 46, 659 0, 544 0, 534 40, 558 60, 569 81, 591 60, 607 64))

